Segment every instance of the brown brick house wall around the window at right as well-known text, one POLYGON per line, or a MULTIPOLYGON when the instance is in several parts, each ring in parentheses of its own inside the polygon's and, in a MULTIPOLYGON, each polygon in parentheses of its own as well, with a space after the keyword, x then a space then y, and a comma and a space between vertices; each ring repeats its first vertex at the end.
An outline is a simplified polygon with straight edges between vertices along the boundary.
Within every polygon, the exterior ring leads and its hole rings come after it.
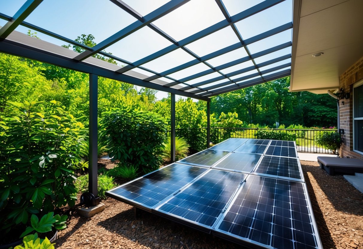
POLYGON ((349 99, 339 101, 340 129, 344 129, 340 157, 360 158, 363 154, 353 151, 353 84, 363 79, 363 57, 340 75, 339 89, 350 93, 349 99))

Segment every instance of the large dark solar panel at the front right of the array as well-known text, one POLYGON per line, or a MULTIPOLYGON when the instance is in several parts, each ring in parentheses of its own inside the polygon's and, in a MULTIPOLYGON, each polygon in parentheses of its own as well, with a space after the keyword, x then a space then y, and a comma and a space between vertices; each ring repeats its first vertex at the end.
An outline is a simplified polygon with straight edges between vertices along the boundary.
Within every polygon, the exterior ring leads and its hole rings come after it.
POLYGON ((249 175, 212 232, 265 248, 322 248, 305 183, 269 177, 249 175))

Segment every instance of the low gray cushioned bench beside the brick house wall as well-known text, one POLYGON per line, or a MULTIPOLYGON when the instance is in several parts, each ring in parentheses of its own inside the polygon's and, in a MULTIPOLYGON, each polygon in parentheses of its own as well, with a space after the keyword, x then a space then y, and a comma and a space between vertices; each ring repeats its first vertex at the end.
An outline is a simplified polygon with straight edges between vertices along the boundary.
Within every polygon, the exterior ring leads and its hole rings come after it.
POLYGON ((331 176, 336 172, 341 174, 363 173, 363 161, 356 158, 318 156, 318 163, 331 176))

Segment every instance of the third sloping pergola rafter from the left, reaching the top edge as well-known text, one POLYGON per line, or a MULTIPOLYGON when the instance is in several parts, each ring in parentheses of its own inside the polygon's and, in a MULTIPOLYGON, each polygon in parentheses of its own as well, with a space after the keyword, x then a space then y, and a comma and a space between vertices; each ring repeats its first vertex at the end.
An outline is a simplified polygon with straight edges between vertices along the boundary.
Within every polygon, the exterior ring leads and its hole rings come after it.
POLYGON ((262 3, 260 4, 257 4, 257 5, 254 5, 253 7, 249 8, 249 9, 246 9, 245 11, 242 11, 234 16, 231 17, 231 22, 228 22, 227 20, 222 20, 220 21, 219 23, 216 23, 212 26, 209 26, 208 28, 205 28, 195 34, 192 34, 191 36, 187 37, 187 38, 184 38, 183 40, 179 41, 178 44, 179 45, 175 45, 175 44, 172 44, 162 50, 159 50, 153 54, 150 54, 149 56, 147 57, 144 57, 138 61, 135 61, 134 63, 128 65, 128 66, 125 66, 123 67, 122 69, 119 69, 118 72, 119 73, 125 73, 126 71, 128 70, 131 70, 133 68, 136 68, 142 64, 145 64, 149 61, 152 61, 152 60, 155 60, 156 58, 159 58, 167 53, 170 53, 182 46, 185 46, 185 45, 188 45, 196 40, 199 40, 200 38, 203 38, 205 36, 208 36, 209 34, 212 34, 218 30, 221 30, 223 28, 226 28, 227 26, 233 24, 233 23, 236 23, 238 21, 241 21, 249 16, 252 16, 258 12, 261 12, 269 7, 272 7, 278 3, 281 3, 282 1, 285 1, 285 0, 265 0, 263 1, 262 3))

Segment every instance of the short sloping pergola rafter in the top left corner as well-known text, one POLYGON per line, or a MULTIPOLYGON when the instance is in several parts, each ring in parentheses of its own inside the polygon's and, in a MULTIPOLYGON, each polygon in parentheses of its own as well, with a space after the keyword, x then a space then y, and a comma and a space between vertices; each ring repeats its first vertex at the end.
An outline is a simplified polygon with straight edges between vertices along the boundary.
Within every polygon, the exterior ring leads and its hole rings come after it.
POLYGON ((26 17, 38 7, 43 0, 28 0, 23 6, 15 13, 15 15, 0 29, 0 40, 5 39, 13 32, 17 26, 21 24, 26 17))

